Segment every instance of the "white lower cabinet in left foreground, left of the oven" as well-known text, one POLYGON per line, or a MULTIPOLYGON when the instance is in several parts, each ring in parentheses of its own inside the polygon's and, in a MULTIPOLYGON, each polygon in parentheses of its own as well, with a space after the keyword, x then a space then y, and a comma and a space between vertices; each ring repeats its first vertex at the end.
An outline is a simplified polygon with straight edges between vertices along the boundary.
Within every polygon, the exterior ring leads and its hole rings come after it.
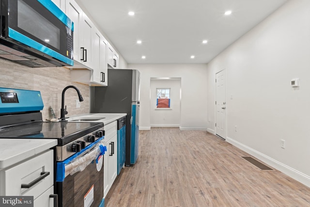
MULTIPOLYGON (((33 196, 34 207, 53 207, 53 150, 0 171, 0 195, 33 196)), ((56 201, 55 201, 56 202, 56 201)))

